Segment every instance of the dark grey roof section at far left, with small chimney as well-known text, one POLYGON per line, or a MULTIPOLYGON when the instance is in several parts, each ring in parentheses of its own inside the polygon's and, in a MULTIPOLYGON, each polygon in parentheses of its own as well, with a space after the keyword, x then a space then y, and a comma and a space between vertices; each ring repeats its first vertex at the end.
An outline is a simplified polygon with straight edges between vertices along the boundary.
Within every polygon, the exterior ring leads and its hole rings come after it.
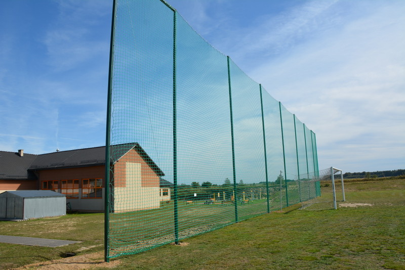
POLYGON ((37 155, 0 151, 0 179, 36 179, 36 176, 28 171, 29 166, 37 155))

